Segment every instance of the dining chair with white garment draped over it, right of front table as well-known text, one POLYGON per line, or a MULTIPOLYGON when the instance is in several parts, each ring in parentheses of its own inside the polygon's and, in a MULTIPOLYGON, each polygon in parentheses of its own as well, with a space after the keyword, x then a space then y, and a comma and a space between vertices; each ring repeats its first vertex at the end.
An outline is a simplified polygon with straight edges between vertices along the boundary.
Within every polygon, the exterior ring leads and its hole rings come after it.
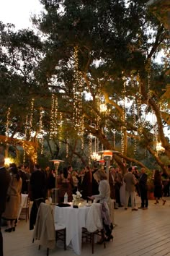
POLYGON ((100 236, 101 240, 99 244, 105 244, 104 228, 102 223, 101 205, 99 203, 93 203, 87 213, 86 227, 82 229, 82 241, 86 239, 86 242, 90 242, 92 246, 92 254, 94 254, 94 237, 100 236))

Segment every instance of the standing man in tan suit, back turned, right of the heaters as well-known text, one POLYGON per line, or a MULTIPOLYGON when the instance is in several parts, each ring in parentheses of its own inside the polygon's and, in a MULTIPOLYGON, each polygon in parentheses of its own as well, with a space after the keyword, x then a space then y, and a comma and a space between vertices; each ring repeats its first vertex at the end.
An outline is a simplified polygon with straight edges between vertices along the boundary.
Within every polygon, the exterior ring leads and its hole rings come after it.
POLYGON ((135 208, 135 176, 132 174, 132 167, 128 168, 128 173, 124 176, 125 182, 125 210, 128 209, 129 198, 131 200, 132 210, 138 210, 135 208))

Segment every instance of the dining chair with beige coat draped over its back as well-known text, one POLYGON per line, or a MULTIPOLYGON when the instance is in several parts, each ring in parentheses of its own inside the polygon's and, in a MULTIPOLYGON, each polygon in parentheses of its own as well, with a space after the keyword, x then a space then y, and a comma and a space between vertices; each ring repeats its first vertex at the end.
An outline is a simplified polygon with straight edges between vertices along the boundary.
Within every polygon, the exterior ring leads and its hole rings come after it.
POLYGON ((39 240, 38 249, 41 246, 47 247, 47 256, 49 255, 49 249, 53 249, 55 242, 58 240, 63 241, 66 250, 66 227, 54 222, 52 205, 41 202, 33 232, 34 240, 39 240))

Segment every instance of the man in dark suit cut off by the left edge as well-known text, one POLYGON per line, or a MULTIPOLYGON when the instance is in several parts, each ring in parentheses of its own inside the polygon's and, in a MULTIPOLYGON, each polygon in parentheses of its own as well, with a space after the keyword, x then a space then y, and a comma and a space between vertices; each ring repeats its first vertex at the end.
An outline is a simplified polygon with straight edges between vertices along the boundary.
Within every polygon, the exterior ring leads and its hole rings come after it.
POLYGON ((1 215, 4 213, 6 204, 6 193, 9 187, 10 174, 4 167, 4 155, 0 155, 0 256, 3 256, 3 238, 1 234, 1 215))

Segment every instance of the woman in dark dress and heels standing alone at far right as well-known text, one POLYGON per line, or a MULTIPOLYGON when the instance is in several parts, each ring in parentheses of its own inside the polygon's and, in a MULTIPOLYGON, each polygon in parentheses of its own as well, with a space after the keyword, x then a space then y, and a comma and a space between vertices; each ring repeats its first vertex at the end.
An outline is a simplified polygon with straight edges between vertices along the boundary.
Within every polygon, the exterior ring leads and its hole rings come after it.
POLYGON ((164 205, 166 203, 166 200, 164 200, 164 198, 162 197, 162 194, 163 194, 162 179, 161 179, 161 174, 158 170, 155 170, 153 184, 154 184, 154 197, 156 199, 155 205, 157 205, 158 199, 160 198, 164 205))

